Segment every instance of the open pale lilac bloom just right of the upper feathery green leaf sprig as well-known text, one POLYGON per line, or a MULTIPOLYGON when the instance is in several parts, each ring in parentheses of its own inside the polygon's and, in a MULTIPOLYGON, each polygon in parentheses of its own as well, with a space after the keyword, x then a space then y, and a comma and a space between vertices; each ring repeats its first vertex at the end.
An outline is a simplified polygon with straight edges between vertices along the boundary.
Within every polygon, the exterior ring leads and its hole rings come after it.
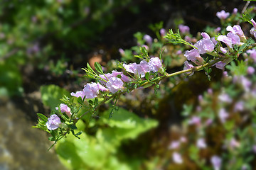
POLYGON ((195 47, 197 47, 198 52, 200 54, 205 54, 206 52, 212 52, 214 50, 215 45, 209 38, 203 38, 203 40, 199 40, 196 42, 195 47))

